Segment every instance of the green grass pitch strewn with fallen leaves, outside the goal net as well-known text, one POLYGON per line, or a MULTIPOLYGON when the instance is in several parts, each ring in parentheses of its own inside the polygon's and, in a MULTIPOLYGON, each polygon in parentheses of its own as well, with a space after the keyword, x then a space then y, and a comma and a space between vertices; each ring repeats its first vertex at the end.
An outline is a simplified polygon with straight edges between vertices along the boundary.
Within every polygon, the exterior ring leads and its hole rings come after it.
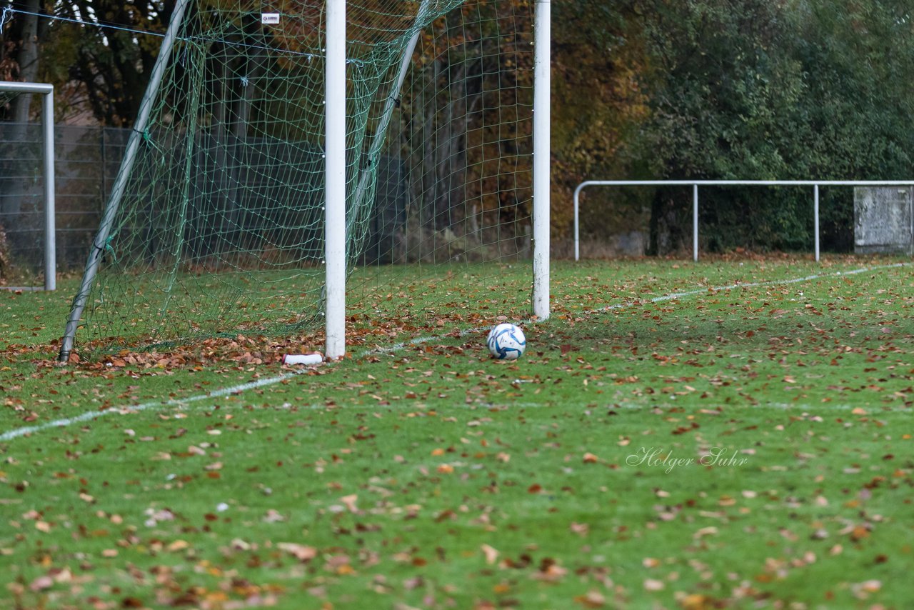
POLYGON ((515 363, 502 273, 315 369, 0 292, 0 608, 914 607, 910 259, 556 262, 515 363))

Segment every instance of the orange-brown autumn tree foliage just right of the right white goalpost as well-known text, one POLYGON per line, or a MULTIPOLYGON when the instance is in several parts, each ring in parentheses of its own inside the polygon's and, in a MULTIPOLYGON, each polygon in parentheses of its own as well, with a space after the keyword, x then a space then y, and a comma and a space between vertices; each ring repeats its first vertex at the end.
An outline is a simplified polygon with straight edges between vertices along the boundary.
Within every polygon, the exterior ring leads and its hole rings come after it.
MULTIPOLYGON (((642 74, 649 64, 632 0, 563 2, 553 10, 552 32, 552 216, 554 229, 567 235, 572 193, 582 180, 637 171, 626 144, 648 117, 642 74)), ((590 192, 582 234, 605 238, 639 228, 645 194, 590 192)))

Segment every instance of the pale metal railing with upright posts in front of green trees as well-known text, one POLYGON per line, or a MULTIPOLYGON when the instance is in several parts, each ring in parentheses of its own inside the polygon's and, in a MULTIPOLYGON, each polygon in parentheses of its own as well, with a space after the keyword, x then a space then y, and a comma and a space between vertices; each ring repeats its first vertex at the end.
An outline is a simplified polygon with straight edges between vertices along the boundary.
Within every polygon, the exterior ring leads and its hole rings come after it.
POLYGON ((815 260, 819 261, 819 187, 914 187, 914 180, 585 180, 574 189, 574 260, 579 260, 580 192, 585 187, 692 187, 692 259, 698 260, 698 187, 813 187, 815 260))

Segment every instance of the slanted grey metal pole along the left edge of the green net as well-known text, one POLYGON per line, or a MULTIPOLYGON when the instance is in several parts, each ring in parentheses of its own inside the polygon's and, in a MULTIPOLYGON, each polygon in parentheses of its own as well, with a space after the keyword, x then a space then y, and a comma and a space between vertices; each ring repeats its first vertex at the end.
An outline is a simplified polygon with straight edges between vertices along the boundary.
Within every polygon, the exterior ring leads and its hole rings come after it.
MULTIPOLYGON (((105 213, 101 217, 99 232, 96 233, 95 240, 92 241, 89 259, 86 262, 86 271, 82 274, 80 291, 73 298, 73 305, 70 307, 67 327, 64 330, 63 338, 60 340, 60 355, 58 357, 60 362, 66 362, 69 359, 70 351, 73 349, 73 340, 76 337, 76 329, 80 326, 82 310, 86 306, 86 301, 89 299, 89 294, 92 290, 92 284, 95 282, 95 275, 99 271, 101 255, 105 251, 114 217, 117 215, 117 210, 121 205, 123 191, 127 186, 127 179, 130 177, 133 162, 136 160, 136 154, 140 148, 140 140, 143 137, 146 126, 149 124, 149 115, 153 112, 154 98, 162 84, 162 79, 165 77, 165 68, 168 64, 168 59, 171 57, 172 48, 175 46, 177 30, 184 19, 184 12, 188 2, 189 0, 178 0, 175 5, 175 12, 172 14, 168 30, 165 32, 165 38, 162 40, 162 48, 159 49, 159 56, 155 59, 153 74, 149 80, 149 86, 143 94, 143 101, 140 102, 140 113, 136 118, 136 123, 133 123, 133 132, 131 132, 130 140, 127 142, 121 169, 114 180, 112 195, 108 198, 108 205, 105 207, 105 213)), ((193 135, 190 137, 193 137, 193 135)))

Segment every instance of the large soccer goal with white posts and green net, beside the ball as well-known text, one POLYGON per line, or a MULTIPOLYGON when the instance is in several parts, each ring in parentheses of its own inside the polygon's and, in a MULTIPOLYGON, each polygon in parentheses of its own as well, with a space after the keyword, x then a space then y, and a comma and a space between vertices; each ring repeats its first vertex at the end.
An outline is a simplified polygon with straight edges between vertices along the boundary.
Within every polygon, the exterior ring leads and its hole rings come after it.
POLYGON ((548 25, 548 0, 179 1, 60 359, 315 326, 335 358, 357 312, 420 326, 418 294, 505 264, 532 273, 503 308, 546 318, 548 25))

